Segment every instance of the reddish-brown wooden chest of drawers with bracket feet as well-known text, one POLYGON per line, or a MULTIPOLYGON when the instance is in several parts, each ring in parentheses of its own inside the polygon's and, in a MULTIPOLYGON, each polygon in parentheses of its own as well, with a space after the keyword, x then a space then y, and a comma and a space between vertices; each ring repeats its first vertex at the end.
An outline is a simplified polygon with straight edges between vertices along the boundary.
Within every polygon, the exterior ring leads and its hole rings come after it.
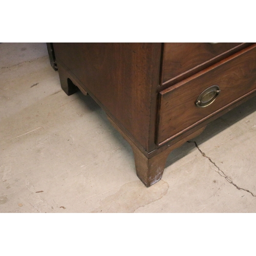
POLYGON ((148 187, 168 154, 256 95, 254 43, 54 43, 62 89, 91 97, 148 187))

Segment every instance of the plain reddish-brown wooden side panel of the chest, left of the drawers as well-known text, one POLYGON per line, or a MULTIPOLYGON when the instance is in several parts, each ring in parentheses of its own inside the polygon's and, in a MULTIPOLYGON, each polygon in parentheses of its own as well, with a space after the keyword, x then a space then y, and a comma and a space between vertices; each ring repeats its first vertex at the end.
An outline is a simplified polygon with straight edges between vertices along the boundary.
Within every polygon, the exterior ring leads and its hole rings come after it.
POLYGON ((145 150, 153 150, 162 44, 53 45, 57 61, 80 81, 80 87, 93 95, 145 150))

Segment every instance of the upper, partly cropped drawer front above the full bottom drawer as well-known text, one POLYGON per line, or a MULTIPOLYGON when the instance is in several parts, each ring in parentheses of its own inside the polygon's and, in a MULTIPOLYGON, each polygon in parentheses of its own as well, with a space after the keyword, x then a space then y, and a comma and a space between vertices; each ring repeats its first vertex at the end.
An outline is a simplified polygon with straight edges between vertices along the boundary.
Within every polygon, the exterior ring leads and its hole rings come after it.
MULTIPOLYGON (((198 68, 199 65, 203 65, 205 62, 210 61, 214 63, 215 58, 218 58, 217 61, 220 61, 240 51, 243 46, 248 44, 241 42, 219 42, 217 44, 209 42, 165 43, 163 50, 162 82, 164 83, 184 72, 198 68), (228 54, 229 51, 230 54, 228 54), (221 55, 224 56, 221 57, 221 55)), ((212 65, 212 63, 209 64, 212 65)), ((202 67, 202 69, 204 68, 206 67, 202 67)))

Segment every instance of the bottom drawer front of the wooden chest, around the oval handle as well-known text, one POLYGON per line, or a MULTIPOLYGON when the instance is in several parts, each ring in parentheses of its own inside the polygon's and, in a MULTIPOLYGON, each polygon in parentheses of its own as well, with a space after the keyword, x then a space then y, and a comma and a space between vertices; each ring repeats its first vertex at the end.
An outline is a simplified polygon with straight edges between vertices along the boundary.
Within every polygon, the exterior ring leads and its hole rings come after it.
MULTIPOLYGON (((161 145, 188 131, 254 91, 256 45, 162 91, 159 101, 157 144, 161 145), (216 99, 204 108, 197 106, 198 96, 215 85, 221 91, 214 94, 218 95, 216 99)), ((212 93, 208 96, 211 97, 212 93)), ((207 96, 203 100, 206 98, 207 96)))

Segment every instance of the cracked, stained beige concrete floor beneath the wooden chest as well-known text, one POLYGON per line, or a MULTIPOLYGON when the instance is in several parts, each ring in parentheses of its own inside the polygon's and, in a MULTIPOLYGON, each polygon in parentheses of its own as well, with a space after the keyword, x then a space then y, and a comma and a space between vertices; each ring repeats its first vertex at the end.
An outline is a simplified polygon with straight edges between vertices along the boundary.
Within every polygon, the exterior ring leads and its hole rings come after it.
POLYGON ((61 90, 45 43, 0 44, 0 110, 0 212, 256 211, 255 98, 171 153, 150 188, 92 98, 61 90))

